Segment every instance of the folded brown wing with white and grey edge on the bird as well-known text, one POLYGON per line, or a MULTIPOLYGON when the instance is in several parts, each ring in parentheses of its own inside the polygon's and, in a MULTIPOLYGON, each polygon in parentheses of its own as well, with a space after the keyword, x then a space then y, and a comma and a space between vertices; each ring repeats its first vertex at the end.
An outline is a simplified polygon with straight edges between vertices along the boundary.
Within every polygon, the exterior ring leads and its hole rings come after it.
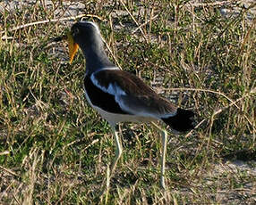
POLYGON ((175 106, 159 96, 140 78, 122 70, 100 70, 91 77, 95 86, 115 95, 123 111, 157 119, 174 116, 175 106))

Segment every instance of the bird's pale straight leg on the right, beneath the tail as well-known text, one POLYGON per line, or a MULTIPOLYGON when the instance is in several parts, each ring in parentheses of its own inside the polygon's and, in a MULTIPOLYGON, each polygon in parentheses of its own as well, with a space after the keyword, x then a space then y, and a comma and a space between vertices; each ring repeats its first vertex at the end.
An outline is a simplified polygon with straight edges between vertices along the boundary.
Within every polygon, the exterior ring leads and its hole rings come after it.
POLYGON ((158 127, 154 122, 151 122, 154 127, 158 129, 162 133, 162 156, 161 156, 161 176, 160 176, 160 184, 165 189, 165 169, 166 169, 166 145, 167 145, 167 133, 166 130, 158 127))

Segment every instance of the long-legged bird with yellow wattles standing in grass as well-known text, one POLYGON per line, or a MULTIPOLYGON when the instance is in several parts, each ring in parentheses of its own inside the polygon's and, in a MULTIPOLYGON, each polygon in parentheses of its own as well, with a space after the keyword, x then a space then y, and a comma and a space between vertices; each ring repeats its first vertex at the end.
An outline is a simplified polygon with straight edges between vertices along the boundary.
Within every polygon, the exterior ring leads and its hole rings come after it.
POLYGON ((177 133, 188 132, 194 128, 194 112, 177 108, 141 78, 115 66, 107 56, 100 29, 95 22, 75 22, 63 39, 68 42, 70 63, 81 49, 86 59, 83 81, 85 97, 90 106, 107 120, 115 136, 115 159, 110 173, 115 171, 123 152, 116 125, 121 122, 151 122, 162 133, 160 185, 165 188, 167 132, 155 122, 163 121, 177 133))

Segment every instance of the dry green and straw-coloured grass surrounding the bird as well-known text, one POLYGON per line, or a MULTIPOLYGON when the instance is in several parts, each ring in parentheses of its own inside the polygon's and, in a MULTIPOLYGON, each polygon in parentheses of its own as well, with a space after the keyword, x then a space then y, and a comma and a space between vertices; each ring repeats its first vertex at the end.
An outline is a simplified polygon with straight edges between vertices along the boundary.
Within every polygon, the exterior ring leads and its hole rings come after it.
POLYGON ((77 1, 1 10, 1 204, 255 202, 255 4, 79 2, 85 9, 74 13, 77 1), (220 7, 231 11, 223 16, 220 7), (82 54, 69 65, 65 45, 51 42, 74 21, 12 30, 79 12, 106 20, 87 18, 98 21, 115 63, 203 120, 190 135, 170 134, 166 191, 158 132, 128 123, 120 127, 122 160, 104 189, 115 154, 110 127, 83 96, 82 54))

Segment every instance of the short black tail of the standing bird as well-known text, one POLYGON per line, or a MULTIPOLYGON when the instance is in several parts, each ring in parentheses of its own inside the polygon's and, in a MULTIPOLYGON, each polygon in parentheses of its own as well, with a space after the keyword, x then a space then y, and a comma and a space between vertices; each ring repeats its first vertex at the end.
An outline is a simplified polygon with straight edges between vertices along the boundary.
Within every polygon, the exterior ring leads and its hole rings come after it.
POLYGON ((168 126, 178 132, 187 132, 194 128, 194 113, 178 108, 177 113, 168 119, 162 119, 168 126))

